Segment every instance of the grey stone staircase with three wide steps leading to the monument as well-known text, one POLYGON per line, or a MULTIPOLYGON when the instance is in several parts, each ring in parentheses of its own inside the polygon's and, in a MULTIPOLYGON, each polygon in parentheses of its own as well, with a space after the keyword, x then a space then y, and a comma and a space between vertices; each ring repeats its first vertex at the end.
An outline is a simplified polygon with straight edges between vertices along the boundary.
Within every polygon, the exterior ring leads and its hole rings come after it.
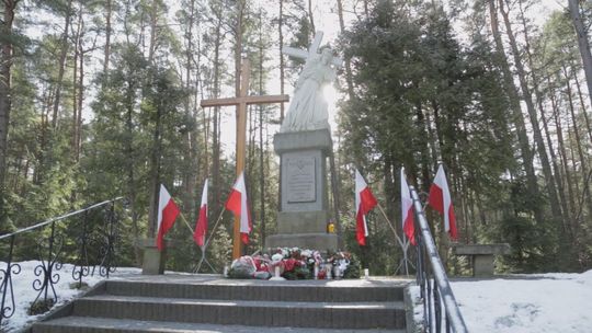
POLYGON ((106 280, 29 332, 405 332, 405 280, 106 280))

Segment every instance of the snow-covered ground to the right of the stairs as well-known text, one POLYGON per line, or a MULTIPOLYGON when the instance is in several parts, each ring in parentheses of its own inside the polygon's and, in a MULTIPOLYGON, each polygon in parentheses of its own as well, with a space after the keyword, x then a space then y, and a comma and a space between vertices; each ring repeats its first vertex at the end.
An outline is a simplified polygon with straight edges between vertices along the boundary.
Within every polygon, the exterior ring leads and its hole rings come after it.
MULTIPOLYGON (((592 332, 592 271, 453 282, 451 286, 469 332, 592 332)), ((419 295, 418 287, 412 295, 419 295)), ((415 305, 415 320, 421 312, 415 305)))

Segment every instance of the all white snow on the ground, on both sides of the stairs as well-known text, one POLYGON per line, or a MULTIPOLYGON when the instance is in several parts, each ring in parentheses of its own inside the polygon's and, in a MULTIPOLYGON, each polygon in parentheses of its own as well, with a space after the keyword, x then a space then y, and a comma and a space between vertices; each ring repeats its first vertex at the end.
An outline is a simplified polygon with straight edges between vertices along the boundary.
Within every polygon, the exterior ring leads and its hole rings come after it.
MULTIPOLYGON (((16 310, 10 319, 2 320, 7 332, 25 326, 37 317, 26 314, 26 309, 37 296, 32 288, 35 267, 39 262, 22 262, 22 272, 13 276, 16 310)), ((0 262, 0 269, 5 263, 0 262)), ((71 288, 72 265, 65 264, 55 285, 58 305, 82 292, 71 288)), ((140 274, 138 268, 117 268, 111 278, 140 274)), ((102 278, 84 277, 94 286, 102 278)), ((417 287, 415 287, 417 288, 417 287)), ((469 332, 489 333, 590 333, 592 332, 592 271, 582 274, 516 275, 510 279, 453 282, 456 300, 469 332)), ((417 294, 419 290, 414 290, 417 294)), ((10 302, 10 300, 7 300, 10 302)), ((5 306, 10 306, 7 302, 5 306)), ((419 310, 419 308, 418 308, 419 310)))

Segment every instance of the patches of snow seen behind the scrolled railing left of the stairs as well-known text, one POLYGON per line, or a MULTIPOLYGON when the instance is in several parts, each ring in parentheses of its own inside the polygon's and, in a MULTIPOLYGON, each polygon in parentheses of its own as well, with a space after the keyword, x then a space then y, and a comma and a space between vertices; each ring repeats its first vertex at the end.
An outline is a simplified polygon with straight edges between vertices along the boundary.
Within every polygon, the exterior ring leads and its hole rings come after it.
MULTIPOLYGON (((27 323, 35 321, 39 315, 27 315, 26 311, 29 307, 31 306, 31 302, 35 300, 37 297, 38 291, 35 291, 33 289, 33 282, 35 279, 38 279, 39 277, 35 276, 35 267, 41 264, 38 261, 29 261, 29 262, 20 262, 18 263, 21 266, 21 273, 18 275, 12 276, 12 287, 14 290, 14 300, 15 300, 15 310, 14 314, 9 319, 2 320, 2 328, 0 328, 0 332, 2 332, 1 329, 4 329, 5 332, 14 332, 22 328, 24 328, 27 323)), ((0 269, 5 269, 7 263, 0 262, 0 269)), ((56 294, 58 296, 58 302, 56 306, 61 306, 68 300, 72 299, 75 296, 84 292, 82 290, 79 290, 76 288, 75 279, 72 278, 72 269, 73 266, 69 264, 64 264, 61 269, 55 271, 54 273, 59 273, 59 282, 54 285, 56 288, 56 294)), ((96 272, 94 276, 86 276, 82 278, 82 282, 84 284, 88 284, 89 287, 92 287, 96 285, 99 282, 103 279, 103 277, 99 276, 99 267, 96 267, 96 272)), ((137 275, 140 274, 141 269, 139 268, 117 268, 115 269, 115 273, 110 274, 110 278, 122 278, 129 275, 137 275)), ((2 275, 0 275, 0 283, 2 275)), ((43 279, 42 279, 43 282, 43 279)), ((1 291, 1 290, 0 290, 1 291)), ((49 295, 52 295, 52 291, 49 291, 49 295)), ((0 294, 0 299, 1 299, 0 294)), ((12 307, 10 296, 7 295, 4 307, 12 307)))

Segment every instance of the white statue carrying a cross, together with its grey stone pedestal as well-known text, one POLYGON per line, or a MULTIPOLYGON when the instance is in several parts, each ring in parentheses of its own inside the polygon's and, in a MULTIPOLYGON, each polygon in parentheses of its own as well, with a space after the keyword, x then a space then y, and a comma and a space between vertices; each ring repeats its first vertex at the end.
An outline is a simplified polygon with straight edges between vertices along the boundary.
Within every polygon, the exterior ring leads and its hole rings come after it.
POLYGON ((327 158, 333 141, 322 88, 335 79, 341 59, 328 47, 317 51, 321 38, 322 33, 317 33, 308 51, 284 48, 288 55, 306 58, 306 64, 286 118, 273 140, 281 160, 281 203, 277 234, 266 238, 266 248, 338 249, 338 236, 327 231, 327 158))

